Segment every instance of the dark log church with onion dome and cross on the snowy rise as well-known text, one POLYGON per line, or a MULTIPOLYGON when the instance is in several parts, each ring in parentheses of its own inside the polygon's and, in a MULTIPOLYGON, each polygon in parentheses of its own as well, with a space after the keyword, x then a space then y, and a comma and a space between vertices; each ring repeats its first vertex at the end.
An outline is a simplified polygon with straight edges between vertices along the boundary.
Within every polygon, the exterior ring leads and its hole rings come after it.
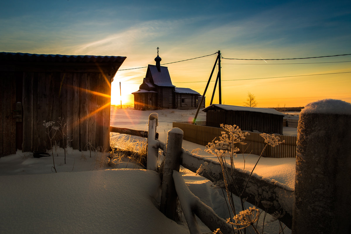
MULTIPOLYGON (((200 93, 190 88, 178 88, 172 84, 168 68, 160 66, 161 58, 155 58, 156 65, 148 65, 143 83, 134 95, 134 109, 195 109, 200 103, 200 93)), ((203 105, 205 108, 205 101, 203 105)))

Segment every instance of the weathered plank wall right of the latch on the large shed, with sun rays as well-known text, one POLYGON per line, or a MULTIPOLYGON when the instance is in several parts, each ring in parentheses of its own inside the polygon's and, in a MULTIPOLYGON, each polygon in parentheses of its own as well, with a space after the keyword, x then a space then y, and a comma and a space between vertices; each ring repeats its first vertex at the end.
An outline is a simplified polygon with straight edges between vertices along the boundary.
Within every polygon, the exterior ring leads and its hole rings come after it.
MULTIPOLYGON (((99 73, 25 72, 23 75, 24 151, 48 145, 43 121, 67 123, 64 133, 73 149, 109 149, 111 80, 99 73), (105 95, 98 95, 100 92, 105 95)), ((58 136, 58 133, 57 133, 58 136)), ((62 146, 62 140, 55 138, 62 146)))

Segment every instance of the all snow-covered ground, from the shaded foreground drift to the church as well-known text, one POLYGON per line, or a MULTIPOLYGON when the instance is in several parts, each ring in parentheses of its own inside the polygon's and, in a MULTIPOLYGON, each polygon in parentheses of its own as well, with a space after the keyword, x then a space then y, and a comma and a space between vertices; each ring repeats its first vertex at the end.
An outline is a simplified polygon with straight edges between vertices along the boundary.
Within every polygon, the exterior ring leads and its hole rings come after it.
MULTIPOLYGON (((159 114, 159 139, 165 141, 172 122, 191 121, 196 110, 111 107, 111 125, 147 130, 148 116, 153 112, 159 114)), ((205 120, 205 113, 200 112, 197 120, 205 120)), ((296 134, 296 129, 287 130, 284 134, 296 134)), ((205 148, 187 141, 183 147, 189 151, 205 148)), ((204 151, 198 154, 213 157, 204 151)), ((252 168, 257 157, 249 155, 245 169, 252 168)), ((18 151, 0 158, 0 233, 189 233, 186 224, 171 221, 159 212, 157 173, 110 169, 101 165, 101 153, 93 152, 90 157, 90 152, 72 148, 67 150, 66 164, 62 149, 54 151, 54 159, 58 173, 52 172, 52 156, 33 158, 31 153, 18 151)), ((244 168, 241 155, 235 166, 244 168)), ((119 168, 136 166, 126 161, 119 168)), ((254 172, 293 188, 294 170, 295 159, 261 158, 254 172)), ((221 189, 188 170, 182 172, 190 190, 220 217, 228 218, 221 189)), ((238 199, 236 204, 239 208, 238 199)), ((200 226, 203 233, 213 231, 200 226)), ((278 226, 277 222, 266 223, 264 233, 278 233, 278 226)), ((284 233, 291 231, 285 229, 284 233)))

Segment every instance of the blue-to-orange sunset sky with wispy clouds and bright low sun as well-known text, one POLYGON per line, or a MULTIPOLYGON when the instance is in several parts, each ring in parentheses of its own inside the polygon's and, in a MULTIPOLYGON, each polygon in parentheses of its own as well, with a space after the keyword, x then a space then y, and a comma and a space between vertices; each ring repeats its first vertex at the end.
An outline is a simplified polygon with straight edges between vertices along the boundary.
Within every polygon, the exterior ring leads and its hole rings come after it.
MULTIPOLYGON (((146 73, 146 68, 123 69, 155 64, 157 47, 161 64, 219 50, 224 58, 239 59, 351 54, 350 0, 5 0, 0 11, 0 52, 126 56, 112 82, 117 105, 119 82, 122 102, 131 103, 146 73)), ((211 55, 164 66, 173 85, 202 94, 215 60, 211 55)), ((351 55, 221 63, 222 104, 241 106, 248 92, 258 107, 305 106, 326 98, 351 102, 351 55)))

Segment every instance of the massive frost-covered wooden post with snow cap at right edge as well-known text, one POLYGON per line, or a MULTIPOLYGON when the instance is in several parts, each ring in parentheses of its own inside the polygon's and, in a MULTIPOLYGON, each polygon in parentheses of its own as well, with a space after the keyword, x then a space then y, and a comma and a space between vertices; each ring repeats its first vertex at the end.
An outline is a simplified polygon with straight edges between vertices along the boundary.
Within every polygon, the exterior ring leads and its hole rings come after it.
POLYGON ((300 113, 292 233, 351 233, 351 104, 326 99, 300 113))

